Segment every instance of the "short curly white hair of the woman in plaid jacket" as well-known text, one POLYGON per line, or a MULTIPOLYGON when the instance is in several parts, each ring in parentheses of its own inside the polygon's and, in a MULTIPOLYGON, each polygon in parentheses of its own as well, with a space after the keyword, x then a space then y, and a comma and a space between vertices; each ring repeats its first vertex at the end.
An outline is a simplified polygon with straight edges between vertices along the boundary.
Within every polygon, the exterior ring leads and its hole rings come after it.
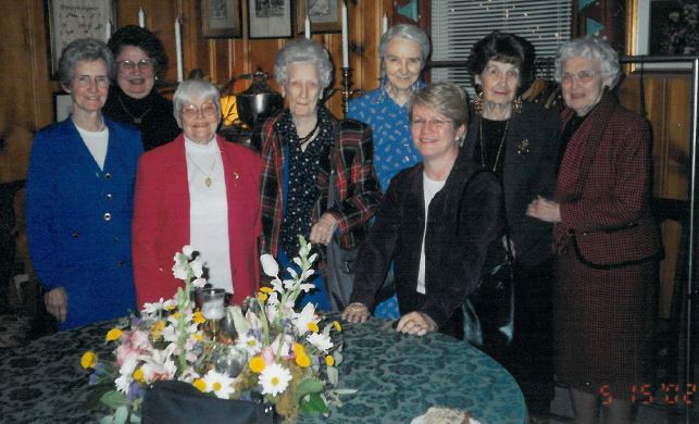
POLYGON ((295 63, 312 63, 317 70, 321 89, 330 85, 333 79, 333 62, 330 54, 317 41, 300 38, 287 42, 274 58, 274 79, 280 86, 288 82, 288 67, 295 63))

